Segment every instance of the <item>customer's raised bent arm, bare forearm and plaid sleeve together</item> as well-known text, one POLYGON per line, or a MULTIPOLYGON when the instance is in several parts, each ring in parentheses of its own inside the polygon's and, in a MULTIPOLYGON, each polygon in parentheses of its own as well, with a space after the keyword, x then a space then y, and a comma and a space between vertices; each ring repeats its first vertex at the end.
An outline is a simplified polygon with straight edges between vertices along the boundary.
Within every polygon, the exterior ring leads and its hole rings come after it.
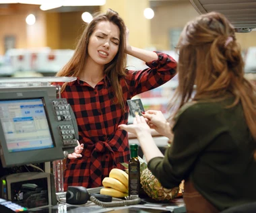
POLYGON ((146 62, 148 68, 143 70, 127 71, 127 75, 123 78, 123 87, 129 89, 129 97, 133 97, 139 93, 149 91, 170 81, 177 71, 177 62, 164 52, 153 52, 142 50, 129 45, 128 35, 126 52, 131 56, 137 57, 146 62))

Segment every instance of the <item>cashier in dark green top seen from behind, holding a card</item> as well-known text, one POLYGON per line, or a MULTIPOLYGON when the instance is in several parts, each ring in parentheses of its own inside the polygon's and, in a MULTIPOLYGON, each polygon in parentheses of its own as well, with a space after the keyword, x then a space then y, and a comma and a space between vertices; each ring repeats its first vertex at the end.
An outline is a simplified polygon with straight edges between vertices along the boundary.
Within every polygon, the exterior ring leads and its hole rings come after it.
MULTIPOLYGON (((215 213, 256 201, 256 89, 244 77, 235 30, 220 13, 189 22, 179 39, 172 119, 159 111, 121 124, 137 136, 153 175, 168 189, 185 179, 187 212, 215 213), (169 138, 165 155, 150 127, 169 138)), ((251 211, 252 212, 252 211, 251 211)))

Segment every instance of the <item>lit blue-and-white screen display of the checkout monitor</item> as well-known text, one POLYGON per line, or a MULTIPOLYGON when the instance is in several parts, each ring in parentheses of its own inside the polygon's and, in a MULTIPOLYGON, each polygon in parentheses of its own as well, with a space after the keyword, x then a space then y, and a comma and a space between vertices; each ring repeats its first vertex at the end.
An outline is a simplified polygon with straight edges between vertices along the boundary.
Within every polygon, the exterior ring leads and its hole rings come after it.
POLYGON ((9 152, 54 146, 42 98, 0 101, 0 120, 9 152))

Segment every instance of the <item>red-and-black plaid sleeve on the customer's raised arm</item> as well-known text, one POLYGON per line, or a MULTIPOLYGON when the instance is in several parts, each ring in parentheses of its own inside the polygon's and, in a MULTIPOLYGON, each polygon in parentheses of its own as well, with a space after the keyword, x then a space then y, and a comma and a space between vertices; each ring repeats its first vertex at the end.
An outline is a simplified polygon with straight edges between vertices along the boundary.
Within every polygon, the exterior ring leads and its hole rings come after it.
POLYGON ((156 52, 156 54, 158 54, 158 60, 146 63, 148 69, 128 71, 126 81, 131 97, 159 87, 176 75, 176 60, 163 52, 156 52))

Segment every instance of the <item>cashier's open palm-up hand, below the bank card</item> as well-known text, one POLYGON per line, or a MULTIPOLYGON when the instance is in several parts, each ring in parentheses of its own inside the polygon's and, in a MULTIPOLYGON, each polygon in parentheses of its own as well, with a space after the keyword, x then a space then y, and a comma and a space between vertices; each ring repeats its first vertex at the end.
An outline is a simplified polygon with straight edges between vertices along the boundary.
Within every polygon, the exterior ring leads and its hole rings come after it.
POLYGON ((140 132, 147 132, 151 134, 150 127, 148 126, 145 118, 142 116, 136 116, 133 120, 133 124, 120 124, 119 128, 135 135, 139 134, 140 132))

